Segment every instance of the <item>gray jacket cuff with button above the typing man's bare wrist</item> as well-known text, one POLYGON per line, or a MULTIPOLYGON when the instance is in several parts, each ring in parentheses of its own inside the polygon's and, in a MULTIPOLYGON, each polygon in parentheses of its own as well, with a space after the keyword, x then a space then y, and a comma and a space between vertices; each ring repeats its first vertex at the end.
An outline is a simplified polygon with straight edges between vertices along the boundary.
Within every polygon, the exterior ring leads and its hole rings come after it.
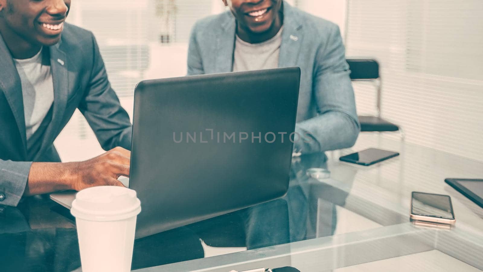
POLYGON ((16 206, 27 186, 31 161, 0 159, 0 205, 16 206))

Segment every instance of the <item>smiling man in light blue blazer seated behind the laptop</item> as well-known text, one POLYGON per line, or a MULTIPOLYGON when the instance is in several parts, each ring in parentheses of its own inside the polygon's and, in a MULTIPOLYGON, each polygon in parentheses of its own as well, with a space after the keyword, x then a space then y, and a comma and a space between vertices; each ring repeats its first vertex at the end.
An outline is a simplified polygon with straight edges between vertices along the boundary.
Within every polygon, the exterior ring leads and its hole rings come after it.
POLYGON ((222 0, 230 11, 198 21, 188 75, 298 66, 294 152, 354 145, 360 130, 339 27, 283 0, 222 0), (296 137, 297 139, 297 137, 296 137))

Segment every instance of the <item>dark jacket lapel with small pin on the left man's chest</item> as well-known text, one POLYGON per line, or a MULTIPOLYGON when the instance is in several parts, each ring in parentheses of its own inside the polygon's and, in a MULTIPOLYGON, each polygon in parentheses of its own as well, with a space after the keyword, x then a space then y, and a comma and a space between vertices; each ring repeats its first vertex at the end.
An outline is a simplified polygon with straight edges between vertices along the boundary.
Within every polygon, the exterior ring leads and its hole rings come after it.
POLYGON ((50 144, 57 137, 57 130, 64 116, 67 95, 69 90, 68 63, 66 54, 60 49, 61 42, 50 46, 50 67, 52 71, 52 81, 54 84, 54 105, 52 109, 52 120, 47 127, 40 152, 35 159, 40 157, 50 144))

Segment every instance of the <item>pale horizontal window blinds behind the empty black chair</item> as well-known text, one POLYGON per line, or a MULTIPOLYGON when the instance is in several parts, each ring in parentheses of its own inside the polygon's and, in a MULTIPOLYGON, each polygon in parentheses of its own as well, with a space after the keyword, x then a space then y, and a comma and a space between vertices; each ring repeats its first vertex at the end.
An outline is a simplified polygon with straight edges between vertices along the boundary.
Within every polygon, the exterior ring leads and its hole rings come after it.
MULTIPOLYGON (((347 56, 375 57, 383 117, 406 141, 483 161, 483 2, 349 0, 347 56)), ((354 84, 358 114, 374 88, 354 84)))

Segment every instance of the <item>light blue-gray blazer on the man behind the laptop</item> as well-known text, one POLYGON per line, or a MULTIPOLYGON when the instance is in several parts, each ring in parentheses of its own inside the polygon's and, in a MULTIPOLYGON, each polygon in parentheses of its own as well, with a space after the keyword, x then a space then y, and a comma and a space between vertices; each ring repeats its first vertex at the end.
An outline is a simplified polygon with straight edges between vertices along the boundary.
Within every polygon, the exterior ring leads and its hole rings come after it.
MULTIPOLYGON (((360 126, 339 27, 283 6, 279 67, 300 67, 296 132, 313 135, 294 147, 302 153, 350 147, 360 126)), ((188 75, 232 72, 235 31, 229 11, 199 20, 189 42, 188 75)))

